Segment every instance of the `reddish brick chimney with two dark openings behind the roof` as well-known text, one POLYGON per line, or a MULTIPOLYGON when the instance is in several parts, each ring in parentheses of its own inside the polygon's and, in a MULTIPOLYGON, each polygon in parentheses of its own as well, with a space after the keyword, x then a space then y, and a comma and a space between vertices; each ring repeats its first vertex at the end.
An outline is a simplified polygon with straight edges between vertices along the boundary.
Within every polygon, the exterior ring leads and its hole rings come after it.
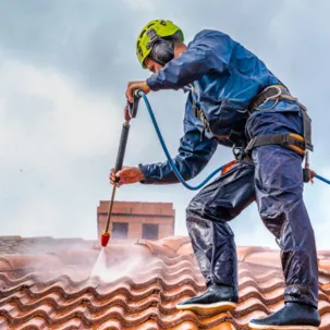
MULTIPOLYGON (((98 237, 105 230, 109 200, 97 207, 98 237)), ((114 201, 111 215, 112 242, 159 240, 174 235, 175 210, 172 203, 114 201)))

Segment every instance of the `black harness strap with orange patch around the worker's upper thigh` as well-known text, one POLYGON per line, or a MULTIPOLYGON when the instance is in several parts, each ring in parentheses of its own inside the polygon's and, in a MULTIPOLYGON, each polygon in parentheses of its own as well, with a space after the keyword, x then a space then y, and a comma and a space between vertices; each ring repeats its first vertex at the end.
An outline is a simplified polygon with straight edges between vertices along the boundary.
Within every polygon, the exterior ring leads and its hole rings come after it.
POLYGON ((252 149, 266 145, 280 145, 304 156, 306 151, 305 139, 297 134, 270 134, 259 135, 249 140, 245 148, 245 154, 249 155, 252 149))

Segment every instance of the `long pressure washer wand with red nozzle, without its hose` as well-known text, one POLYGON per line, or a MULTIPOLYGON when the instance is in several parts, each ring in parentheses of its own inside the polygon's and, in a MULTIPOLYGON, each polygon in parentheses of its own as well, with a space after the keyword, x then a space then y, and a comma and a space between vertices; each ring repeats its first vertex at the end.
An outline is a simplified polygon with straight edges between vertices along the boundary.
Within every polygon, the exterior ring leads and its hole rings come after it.
MULTIPOLYGON (((121 132, 121 137, 120 137, 120 143, 119 143, 119 150, 118 150, 115 167, 114 167, 114 173, 119 172, 123 167, 123 161, 124 161, 124 156, 125 156, 125 150, 126 150, 126 145, 127 145, 127 139, 129 139, 129 133, 130 133, 130 121, 132 118, 136 117, 138 99, 139 99, 139 94, 138 94, 138 90, 136 90, 134 93, 133 103, 127 101, 127 105, 125 107, 125 115, 124 115, 125 120, 124 120, 124 123, 122 126, 122 132, 121 132)), ((118 182, 119 182, 119 178, 115 178, 115 184, 113 185, 111 199, 110 199, 110 204, 109 204, 107 223, 106 223, 105 231, 102 232, 102 235, 101 235, 101 246, 102 247, 106 247, 110 240, 110 232, 112 230, 112 228, 110 228, 110 224, 111 224, 110 219, 111 219, 115 188, 117 188, 118 182)))

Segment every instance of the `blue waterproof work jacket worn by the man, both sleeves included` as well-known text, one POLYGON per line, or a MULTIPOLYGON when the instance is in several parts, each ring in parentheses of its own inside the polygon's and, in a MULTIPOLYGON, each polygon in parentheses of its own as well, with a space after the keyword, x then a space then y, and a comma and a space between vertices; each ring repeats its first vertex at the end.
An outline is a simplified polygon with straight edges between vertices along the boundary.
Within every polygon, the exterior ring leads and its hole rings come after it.
MULTIPOLYGON (((191 88, 183 121, 184 135, 173 158, 185 180, 195 178, 205 168, 219 144, 231 146, 225 137, 237 125, 243 123, 244 126, 252 99, 265 87, 281 84, 254 53, 227 34, 211 29, 199 32, 186 51, 146 82, 154 91, 191 88), (204 125, 193 113, 194 101, 210 129, 203 140, 204 125)), ((140 163, 139 168, 146 176, 142 183, 179 182, 168 161, 140 163)))

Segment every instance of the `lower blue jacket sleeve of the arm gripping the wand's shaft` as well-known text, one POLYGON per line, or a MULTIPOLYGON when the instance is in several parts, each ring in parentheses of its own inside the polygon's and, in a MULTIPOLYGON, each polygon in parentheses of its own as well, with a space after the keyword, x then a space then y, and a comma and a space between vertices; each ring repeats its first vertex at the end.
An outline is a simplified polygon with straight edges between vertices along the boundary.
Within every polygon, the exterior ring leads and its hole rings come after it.
MULTIPOLYGON (((175 167, 185 181, 195 178, 206 167, 218 146, 218 140, 207 135, 200 142, 200 133, 195 126, 194 120, 197 121, 193 117, 190 95, 184 118, 184 136, 180 140, 179 152, 173 158, 175 167)), ((146 176, 146 180, 140 181, 140 183, 170 184, 179 182, 168 161, 138 164, 138 167, 146 176)))

